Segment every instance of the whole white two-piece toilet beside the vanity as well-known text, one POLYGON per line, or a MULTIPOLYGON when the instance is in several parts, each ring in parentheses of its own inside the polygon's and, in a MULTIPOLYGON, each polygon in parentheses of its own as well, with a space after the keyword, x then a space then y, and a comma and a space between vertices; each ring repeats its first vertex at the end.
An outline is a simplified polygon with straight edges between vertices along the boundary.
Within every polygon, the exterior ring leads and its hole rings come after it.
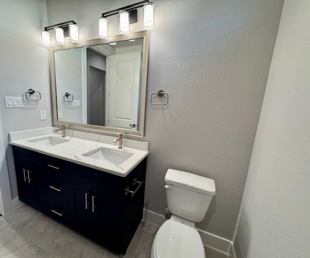
POLYGON ((168 169, 165 181, 167 206, 172 216, 159 227, 151 258, 205 258, 195 222, 203 220, 215 195, 214 180, 168 169))

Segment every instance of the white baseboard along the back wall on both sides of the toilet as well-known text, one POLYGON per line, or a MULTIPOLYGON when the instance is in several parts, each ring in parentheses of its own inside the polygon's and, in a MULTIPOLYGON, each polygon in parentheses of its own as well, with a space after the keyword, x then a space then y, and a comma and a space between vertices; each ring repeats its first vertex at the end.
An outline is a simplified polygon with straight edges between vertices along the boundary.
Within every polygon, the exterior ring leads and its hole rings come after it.
MULTIPOLYGON (((146 210, 146 209, 143 209, 143 220, 148 221, 152 224, 155 224, 156 226, 161 226, 166 221, 163 215, 158 214, 151 210, 146 210)), ((232 251, 234 251, 232 241, 219 237, 217 235, 211 234, 209 232, 203 231, 198 228, 197 230, 202 238, 202 243, 204 245, 217 249, 218 251, 221 251, 225 254, 229 254, 229 253, 232 253, 232 251)), ((236 258, 236 257, 233 256, 233 258, 236 258)))

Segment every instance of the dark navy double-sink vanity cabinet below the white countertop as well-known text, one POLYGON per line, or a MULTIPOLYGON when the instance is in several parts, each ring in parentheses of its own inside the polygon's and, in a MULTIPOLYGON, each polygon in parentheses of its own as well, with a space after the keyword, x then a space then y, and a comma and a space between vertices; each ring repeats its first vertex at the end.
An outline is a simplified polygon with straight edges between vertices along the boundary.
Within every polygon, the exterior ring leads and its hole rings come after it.
POLYGON ((13 146, 13 150, 21 201, 111 251, 125 254, 142 219, 146 158, 126 177, 119 177, 20 147, 13 146), (25 169, 35 171, 33 180, 40 184, 36 190, 32 177, 29 184, 28 172, 25 180, 25 169))

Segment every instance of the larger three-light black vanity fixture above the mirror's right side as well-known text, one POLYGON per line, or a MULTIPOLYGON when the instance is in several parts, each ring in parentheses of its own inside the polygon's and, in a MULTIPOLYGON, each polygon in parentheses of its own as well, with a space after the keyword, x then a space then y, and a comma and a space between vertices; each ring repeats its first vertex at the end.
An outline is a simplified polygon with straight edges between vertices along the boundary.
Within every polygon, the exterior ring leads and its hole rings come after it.
POLYGON ((154 28, 154 5, 149 0, 144 0, 135 4, 124 6, 102 14, 99 18, 99 37, 108 38, 108 20, 111 15, 119 15, 119 32, 121 34, 130 33, 129 24, 138 21, 138 8, 143 7, 143 28, 150 30, 154 28))

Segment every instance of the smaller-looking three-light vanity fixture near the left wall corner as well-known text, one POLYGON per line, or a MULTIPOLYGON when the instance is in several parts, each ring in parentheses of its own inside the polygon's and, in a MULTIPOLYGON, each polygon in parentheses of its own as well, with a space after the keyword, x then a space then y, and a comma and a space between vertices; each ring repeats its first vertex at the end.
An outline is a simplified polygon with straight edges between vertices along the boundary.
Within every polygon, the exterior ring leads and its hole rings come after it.
POLYGON ((42 44, 46 47, 51 46, 50 33, 48 31, 53 29, 55 42, 58 45, 64 44, 64 37, 69 37, 70 41, 74 43, 79 41, 78 25, 74 20, 71 20, 44 28, 44 31, 41 32, 42 44))

